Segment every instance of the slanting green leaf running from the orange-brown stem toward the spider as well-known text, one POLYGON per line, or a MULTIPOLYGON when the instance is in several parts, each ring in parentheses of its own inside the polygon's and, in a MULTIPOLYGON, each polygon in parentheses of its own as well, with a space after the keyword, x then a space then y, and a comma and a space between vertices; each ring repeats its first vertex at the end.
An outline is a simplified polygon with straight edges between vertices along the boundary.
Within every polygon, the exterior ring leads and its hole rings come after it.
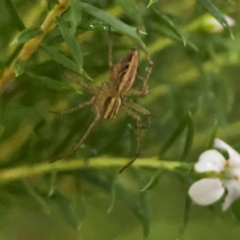
POLYGON ((79 48, 79 45, 74 38, 73 34, 70 32, 70 29, 67 26, 67 23, 62 18, 57 18, 57 23, 60 29, 60 32, 62 33, 62 36, 68 45, 68 48, 75 59, 77 66, 78 66, 78 72, 81 73, 82 66, 83 66, 83 55, 79 48))

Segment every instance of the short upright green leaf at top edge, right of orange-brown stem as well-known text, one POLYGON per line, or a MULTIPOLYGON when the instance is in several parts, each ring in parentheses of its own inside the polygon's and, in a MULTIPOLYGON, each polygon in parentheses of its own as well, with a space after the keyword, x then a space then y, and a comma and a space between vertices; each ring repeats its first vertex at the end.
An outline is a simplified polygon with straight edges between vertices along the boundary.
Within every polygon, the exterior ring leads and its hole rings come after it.
POLYGON ((81 2, 80 0, 71 0, 70 7, 70 18, 71 18, 71 32, 74 35, 78 26, 78 23, 81 21, 81 2))

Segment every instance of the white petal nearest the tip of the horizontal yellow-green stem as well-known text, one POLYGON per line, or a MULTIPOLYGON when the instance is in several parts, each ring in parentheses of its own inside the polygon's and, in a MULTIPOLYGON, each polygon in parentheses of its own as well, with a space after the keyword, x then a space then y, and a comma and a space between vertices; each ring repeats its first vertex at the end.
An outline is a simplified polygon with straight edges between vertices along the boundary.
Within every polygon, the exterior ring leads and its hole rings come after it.
POLYGON ((198 162, 195 164, 195 170, 197 172, 221 172, 224 169, 226 160, 221 153, 217 150, 208 150, 203 152, 198 162))

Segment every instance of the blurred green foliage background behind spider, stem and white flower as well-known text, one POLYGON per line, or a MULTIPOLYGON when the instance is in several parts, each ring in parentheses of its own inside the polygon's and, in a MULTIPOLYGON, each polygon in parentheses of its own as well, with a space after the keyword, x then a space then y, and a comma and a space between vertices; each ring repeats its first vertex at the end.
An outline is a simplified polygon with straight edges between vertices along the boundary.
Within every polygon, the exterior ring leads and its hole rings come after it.
MULTIPOLYGON (((82 2, 81 7, 80 1, 71 1, 61 15, 84 59, 80 80, 98 86, 108 81, 109 15, 139 30, 154 62, 149 94, 130 98, 153 116, 151 128, 142 130, 140 158, 150 163, 153 158, 182 161, 190 166, 214 136, 240 150, 239 1, 82 2), (86 4, 100 11, 100 18, 87 11, 86 4)), ((0 2, 0 76, 24 44, 41 34, 39 27, 57 4, 54 0, 0 2)), ((115 63, 140 45, 126 31, 112 27, 115 63)), ((74 63, 76 56, 71 53, 55 26, 26 62, 15 62, 16 78, 1 89, 2 172, 48 164, 74 146, 93 121, 91 107, 64 116, 48 112, 91 98, 66 76, 66 71, 72 71, 60 56, 74 63)), ((142 51, 140 55, 139 74, 144 76, 148 62, 142 51)), ((136 81, 134 87, 140 86, 141 81, 136 81)), ((147 122, 144 116, 142 120, 147 122)), ((135 125, 121 111, 115 120, 101 120, 68 161, 130 160, 136 145, 135 125)), ((227 212, 221 212, 220 203, 210 207, 191 204, 187 190, 195 176, 188 168, 168 172, 132 166, 120 175, 119 170, 109 164, 0 180, 0 238, 239 239, 239 202, 227 212), (152 176, 156 176, 155 186, 140 192, 152 176)))

